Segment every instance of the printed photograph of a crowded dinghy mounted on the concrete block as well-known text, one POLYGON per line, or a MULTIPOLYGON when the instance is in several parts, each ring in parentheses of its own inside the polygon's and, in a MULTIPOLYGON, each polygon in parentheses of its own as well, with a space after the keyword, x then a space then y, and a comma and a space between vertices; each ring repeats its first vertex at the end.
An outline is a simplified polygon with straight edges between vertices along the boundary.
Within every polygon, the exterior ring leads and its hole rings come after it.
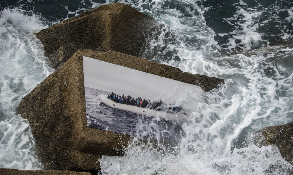
POLYGON ((141 116, 182 121, 188 110, 169 92, 192 88, 202 93, 199 86, 89 57, 83 57, 83 70, 87 126, 106 131, 131 134, 141 116))

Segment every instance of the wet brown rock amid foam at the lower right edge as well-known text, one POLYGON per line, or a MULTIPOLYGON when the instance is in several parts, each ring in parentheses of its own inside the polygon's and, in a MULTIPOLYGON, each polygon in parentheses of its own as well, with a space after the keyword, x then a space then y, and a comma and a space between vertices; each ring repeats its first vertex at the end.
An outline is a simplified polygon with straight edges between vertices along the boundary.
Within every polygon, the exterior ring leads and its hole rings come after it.
MULTIPOLYGON (((255 145, 262 147, 277 145, 282 157, 292 164, 293 160, 293 122, 270 126, 254 133, 255 145)), ((292 164, 293 165, 293 164, 292 164)))

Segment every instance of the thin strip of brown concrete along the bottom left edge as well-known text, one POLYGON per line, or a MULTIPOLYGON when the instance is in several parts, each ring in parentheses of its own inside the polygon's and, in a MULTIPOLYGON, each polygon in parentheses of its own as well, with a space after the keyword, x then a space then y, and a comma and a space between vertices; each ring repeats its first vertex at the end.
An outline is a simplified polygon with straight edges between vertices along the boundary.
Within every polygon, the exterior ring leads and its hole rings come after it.
POLYGON ((1 175, 91 175, 89 172, 0 168, 1 175))

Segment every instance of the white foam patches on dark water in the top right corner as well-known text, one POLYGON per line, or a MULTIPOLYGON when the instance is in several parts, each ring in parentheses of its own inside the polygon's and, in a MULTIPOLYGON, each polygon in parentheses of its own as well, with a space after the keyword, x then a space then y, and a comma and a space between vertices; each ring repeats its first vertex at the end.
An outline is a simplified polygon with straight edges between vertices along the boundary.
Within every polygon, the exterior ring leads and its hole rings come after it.
MULTIPOLYGON (((286 27, 287 21, 292 20, 292 7, 286 9, 282 7, 284 4, 279 7, 278 3, 279 2, 276 1, 268 7, 263 7, 263 5, 261 5, 262 3, 258 3, 258 6, 251 8, 243 1, 235 3, 234 6, 237 9, 236 14, 230 18, 223 18, 234 30, 229 33, 218 33, 219 36, 228 37, 228 42, 222 44, 221 47, 227 49, 228 52, 233 52, 235 49, 250 50, 270 44, 270 42, 265 39, 265 36, 278 36, 284 39, 284 41, 292 38, 289 34, 292 30, 286 27), (283 17, 280 15, 280 12, 288 12, 289 16, 282 19, 283 17), (261 26, 267 25, 272 21, 275 23, 270 25, 275 25, 275 28, 280 29, 280 33, 263 31, 263 28, 258 30, 261 26)), ((288 1, 287 3, 290 4, 291 2, 288 1)), ((288 25, 291 24, 288 23, 288 25)))

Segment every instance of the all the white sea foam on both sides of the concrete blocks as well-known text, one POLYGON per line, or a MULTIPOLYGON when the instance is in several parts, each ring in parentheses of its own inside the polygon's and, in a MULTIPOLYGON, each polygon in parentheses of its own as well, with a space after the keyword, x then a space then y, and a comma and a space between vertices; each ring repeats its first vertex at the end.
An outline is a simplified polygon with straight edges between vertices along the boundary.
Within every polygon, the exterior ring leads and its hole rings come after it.
MULTIPOLYGON (((120 2, 165 24, 160 36, 149 41, 148 50, 143 55, 145 58, 176 66, 185 72, 224 78, 225 84, 200 94, 192 89, 166 92, 167 95, 161 98, 174 97, 179 105, 189 105, 189 121, 173 122, 169 126, 158 122, 157 118, 141 120, 125 156, 103 156, 100 159, 102 173, 288 174, 292 166, 284 161, 278 148, 258 148, 251 143, 251 135, 262 127, 293 120, 293 73, 292 66, 286 63, 292 57, 292 48, 266 47, 249 56, 215 57, 225 47, 247 50, 267 42, 257 29, 268 21, 276 21, 275 12, 280 8, 274 5, 276 10, 269 12, 270 17, 258 24, 255 17, 262 15, 260 13, 267 8, 257 11, 239 1, 235 4, 238 6, 237 15, 225 19, 231 24, 235 20, 239 27, 232 33, 219 34, 232 34, 232 37, 226 45, 218 46, 214 40, 216 34, 206 25, 203 16, 209 8, 198 6, 195 1, 174 1, 176 4, 172 7, 168 0, 120 2)), ((100 5, 91 3, 93 8, 100 5)), ((68 14, 78 14, 82 10, 69 11, 68 14)), ((285 20, 290 21, 292 9, 287 11, 289 17, 285 20)), ((46 65, 41 44, 32 34, 45 26, 38 17, 23 15, 17 9, 4 10, 0 20, 0 46, 1 51, 5 51, 0 57, 0 166, 38 169, 41 163, 34 152, 28 123, 14 111, 20 99, 52 72, 46 65)), ((280 37, 291 37, 286 26, 283 32, 280 37)))

